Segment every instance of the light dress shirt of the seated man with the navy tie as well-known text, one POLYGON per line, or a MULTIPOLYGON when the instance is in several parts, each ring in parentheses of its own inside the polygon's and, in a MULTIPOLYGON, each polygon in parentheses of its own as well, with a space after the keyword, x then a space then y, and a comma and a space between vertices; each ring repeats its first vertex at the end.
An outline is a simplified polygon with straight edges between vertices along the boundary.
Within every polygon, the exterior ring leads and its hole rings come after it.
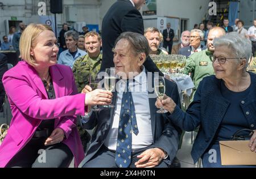
MULTIPOLYGON (((129 88, 133 96, 135 114, 137 118, 137 126, 139 133, 135 135, 132 133, 132 150, 137 151, 142 148, 148 147, 153 143, 151 118, 150 118, 150 105, 148 101, 147 91, 147 76, 144 70, 134 77, 133 80, 129 80, 129 88)), ((115 151, 117 148, 117 135, 119 126, 119 115, 121 112, 121 103, 123 91, 126 90, 126 81, 119 80, 116 84, 117 89, 117 101, 114 110, 114 119, 109 130, 108 136, 105 139, 104 145, 109 150, 115 151)))

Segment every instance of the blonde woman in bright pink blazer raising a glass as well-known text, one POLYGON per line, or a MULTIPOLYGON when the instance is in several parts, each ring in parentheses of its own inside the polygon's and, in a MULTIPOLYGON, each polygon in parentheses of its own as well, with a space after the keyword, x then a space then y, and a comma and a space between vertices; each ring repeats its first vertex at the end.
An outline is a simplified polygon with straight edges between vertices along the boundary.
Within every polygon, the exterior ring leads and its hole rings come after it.
POLYGON ((13 118, 0 146, 0 167, 75 167, 84 159, 76 116, 87 105, 110 104, 112 93, 77 94, 69 66, 57 65, 56 37, 30 24, 20 37, 20 61, 3 76, 13 118))

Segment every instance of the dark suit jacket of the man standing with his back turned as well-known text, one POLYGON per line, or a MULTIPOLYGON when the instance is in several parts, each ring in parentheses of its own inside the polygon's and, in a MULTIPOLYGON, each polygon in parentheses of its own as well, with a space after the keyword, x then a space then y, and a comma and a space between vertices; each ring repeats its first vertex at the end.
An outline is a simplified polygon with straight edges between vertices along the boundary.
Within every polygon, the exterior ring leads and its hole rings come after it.
MULTIPOLYGON (((137 32, 144 34, 141 13, 129 0, 118 0, 106 12, 102 21, 102 63, 101 71, 114 67, 114 43, 122 32, 137 32)), ((150 57, 144 62, 148 71, 158 71, 163 75, 150 57)))

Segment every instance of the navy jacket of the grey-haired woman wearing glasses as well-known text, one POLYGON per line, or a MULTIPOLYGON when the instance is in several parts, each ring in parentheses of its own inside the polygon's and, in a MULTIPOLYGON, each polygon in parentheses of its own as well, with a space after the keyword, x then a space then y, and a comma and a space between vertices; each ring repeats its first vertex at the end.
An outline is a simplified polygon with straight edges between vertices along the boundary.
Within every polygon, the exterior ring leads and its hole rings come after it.
MULTIPOLYGON (((249 95, 241 103, 245 120, 251 130, 256 129, 256 74, 250 73, 251 89, 249 95)), ((193 144, 191 156, 194 163, 207 151, 209 145, 213 142, 218 127, 226 114, 230 101, 226 100, 221 94, 221 79, 215 75, 205 77, 196 90, 193 102, 188 106, 184 113, 179 107, 176 107, 170 115, 171 121, 185 131, 193 131, 200 125, 199 133, 193 144)))

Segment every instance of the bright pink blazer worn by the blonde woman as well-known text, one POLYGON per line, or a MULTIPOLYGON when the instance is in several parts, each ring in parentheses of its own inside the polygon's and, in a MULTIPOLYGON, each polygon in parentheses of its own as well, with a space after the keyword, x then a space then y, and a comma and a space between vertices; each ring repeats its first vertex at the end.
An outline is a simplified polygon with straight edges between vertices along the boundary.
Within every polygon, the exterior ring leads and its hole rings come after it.
POLYGON ((47 100, 47 92, 38 73, 21 61, 3 75, 3 85, 10 101, 13 118, 0 146, 0 167, 6 164, 30 141, 42 120, 55 118, 55 128, 63 129, 67 144, 75 157, 75 167, 84 159, 84 150, 76 128, 76 116, 84 115, 85 94, 77 87, 69 66, 49 68, 56 99, 47 100))

